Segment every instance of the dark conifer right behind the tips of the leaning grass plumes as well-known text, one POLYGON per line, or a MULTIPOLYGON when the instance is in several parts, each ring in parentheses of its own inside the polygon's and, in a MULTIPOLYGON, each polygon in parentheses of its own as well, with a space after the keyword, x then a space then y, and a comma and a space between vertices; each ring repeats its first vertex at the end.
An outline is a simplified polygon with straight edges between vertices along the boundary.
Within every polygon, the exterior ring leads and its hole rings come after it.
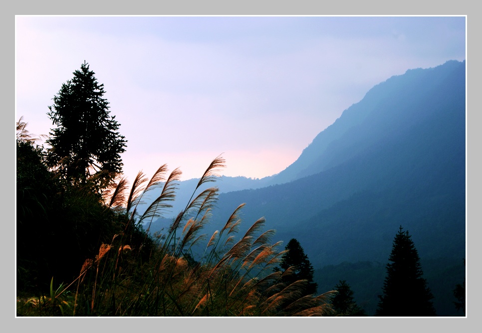
POLYGON ((313 266, 311 266, 300 243, 292 238, 286 245, 285 250, 288 252, 281 257, 279 266, 283 271, 286 271, 289 267, 293 269, 293 274, 284 277, 285 282, 289 284, 297 280, 307 280, 308 284, 304 295, 315 294, 318 285, 313 282, 313 266))

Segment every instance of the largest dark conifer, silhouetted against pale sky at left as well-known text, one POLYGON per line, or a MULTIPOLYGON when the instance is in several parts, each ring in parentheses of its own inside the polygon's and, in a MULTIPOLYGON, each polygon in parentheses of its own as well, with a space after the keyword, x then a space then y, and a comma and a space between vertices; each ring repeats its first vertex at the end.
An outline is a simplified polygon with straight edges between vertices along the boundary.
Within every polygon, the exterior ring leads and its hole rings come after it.
POLYGON ((46 141, 51 146, 47 164, 58 167, 70 182, 97 179, 103 188, 106 180, 122 172, 120 154, 127 141, 117 132, 119 124, 109 115, 109 103, 102 98, 104 85, 98 84, 89 65, 84 62, 73 74, 48 107, 47 114, 57 128, 46 141))

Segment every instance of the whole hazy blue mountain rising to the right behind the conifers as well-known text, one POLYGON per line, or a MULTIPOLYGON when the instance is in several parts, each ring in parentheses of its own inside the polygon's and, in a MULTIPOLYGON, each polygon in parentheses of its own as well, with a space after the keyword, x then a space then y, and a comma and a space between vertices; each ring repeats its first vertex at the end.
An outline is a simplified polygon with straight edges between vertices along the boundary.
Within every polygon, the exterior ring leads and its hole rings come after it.
MULTIPOLYGON (((411 69, 376 85, 292 165, 259 180, 260 188, 248 182, 242 186, 249 189, 221 193, 204 232, 221 229, 245 202, 240 232, 264 216, 266 228, 277 231, 273 241, 296 238, 321 272, 347 262, 384 265, 402 226, 429 286, 440 289, 439 315, 449 313, 451 290, 442 280, 465 276, 454 264, 466 257, 465 61, 411 69)), ((376 294, 381 287, 360 288, 376 294)))

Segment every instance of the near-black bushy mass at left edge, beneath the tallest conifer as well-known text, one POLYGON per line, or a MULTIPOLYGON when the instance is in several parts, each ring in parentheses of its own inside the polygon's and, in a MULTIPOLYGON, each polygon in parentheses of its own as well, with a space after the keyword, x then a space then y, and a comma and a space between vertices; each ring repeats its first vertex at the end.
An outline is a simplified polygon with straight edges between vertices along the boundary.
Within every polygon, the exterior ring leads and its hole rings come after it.
POLYGON ((16 141, 16 258, 20 291, 75 279, 86 258, 115 235, 129 237, 133 249, 153 247, 140 226, 127 228, 125 213, 109 209, 89 181, 72 184, 51 172, 42 147, 16 141))

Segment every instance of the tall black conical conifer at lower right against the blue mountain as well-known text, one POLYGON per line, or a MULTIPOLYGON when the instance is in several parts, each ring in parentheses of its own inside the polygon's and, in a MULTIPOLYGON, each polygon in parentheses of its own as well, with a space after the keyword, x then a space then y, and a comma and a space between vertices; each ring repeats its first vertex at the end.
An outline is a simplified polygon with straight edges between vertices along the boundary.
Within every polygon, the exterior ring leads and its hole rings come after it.
POLYGON ((408 231, 400 231, 393 241, 387 264, 383 295, 375 316, 428 317, 436 316, 434 296, 422 278, 420 258, 408 231))

